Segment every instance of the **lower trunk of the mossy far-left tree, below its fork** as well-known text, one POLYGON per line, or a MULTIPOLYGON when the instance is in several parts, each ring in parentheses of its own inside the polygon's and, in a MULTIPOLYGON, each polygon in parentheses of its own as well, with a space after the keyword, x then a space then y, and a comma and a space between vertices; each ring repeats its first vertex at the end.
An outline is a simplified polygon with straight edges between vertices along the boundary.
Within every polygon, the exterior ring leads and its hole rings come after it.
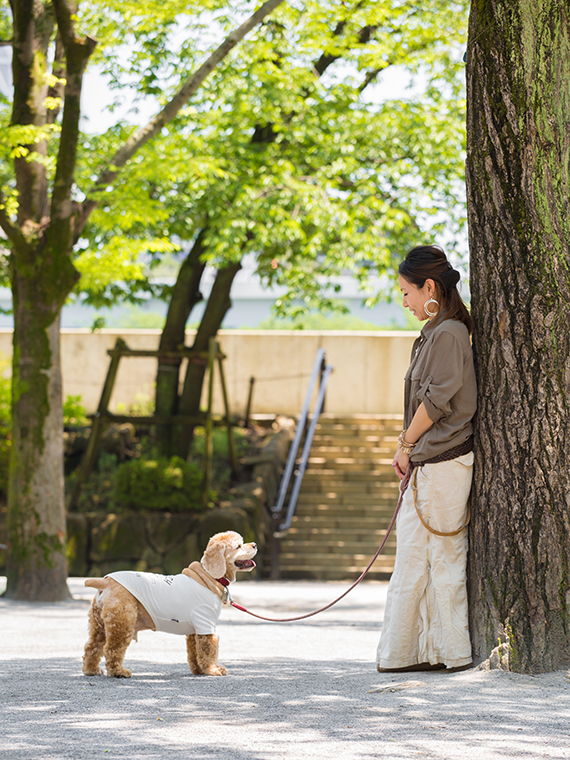
POLYGON ((13 438, 6 596, 67 599, 59 306, 13 277, 13 438))

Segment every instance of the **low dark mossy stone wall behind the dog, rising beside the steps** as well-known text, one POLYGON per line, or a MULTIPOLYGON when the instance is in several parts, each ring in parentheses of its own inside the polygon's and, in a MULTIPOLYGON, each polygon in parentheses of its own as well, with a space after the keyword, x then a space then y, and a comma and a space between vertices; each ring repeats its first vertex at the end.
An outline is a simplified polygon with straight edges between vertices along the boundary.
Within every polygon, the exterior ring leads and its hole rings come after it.
MULTIPOLYGON (((294 423, 280 418, 264 444, 245 466, 251 479, 236 486, 226 501, 202 514, 169 512, 71 512, 67 516, 70 576, 101 577, 115 570, 175 574, 199 560, 214 533, 235 530, 259 546, 257 570, 243 578, 266 574, 266 546, 273 527, 281 473, 294 423)), ((6 543, 6 514, 0 512, 0 543, 6 543)), ((5 572, 0 551, 0 573, 5 572)))

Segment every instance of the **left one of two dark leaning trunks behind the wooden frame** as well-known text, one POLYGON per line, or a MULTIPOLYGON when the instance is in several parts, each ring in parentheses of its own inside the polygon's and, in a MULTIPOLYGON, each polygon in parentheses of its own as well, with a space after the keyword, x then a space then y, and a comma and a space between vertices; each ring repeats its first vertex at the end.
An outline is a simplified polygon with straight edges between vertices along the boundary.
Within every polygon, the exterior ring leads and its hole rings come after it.
MULTIPOLYGON (((159 348, 163 351, 175 351, 184 345, 186 322, 194 306, 202 299, 199 288, 206 266, 200 261, 204 251, 204 235, 205 230, 202 230, 178 272, 160 337, 159 348)), ((158 361, 156 414, 173 415, 178 410, 180 364, 181 359, 177 358, 164 357, 158 361)), ((175 453, 172 425, 157 426, 156 444, 162 456, 170 457, 175 453)))

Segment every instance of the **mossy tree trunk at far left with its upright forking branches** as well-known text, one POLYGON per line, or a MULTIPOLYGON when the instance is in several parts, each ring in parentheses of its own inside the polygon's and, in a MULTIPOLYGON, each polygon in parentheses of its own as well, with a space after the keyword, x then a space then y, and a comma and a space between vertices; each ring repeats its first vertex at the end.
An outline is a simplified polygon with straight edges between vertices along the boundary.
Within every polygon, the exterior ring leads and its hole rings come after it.
MULTIPOLYGON (((52 6, 20 0, 14 14, 14 104, 12 126, 47 123, 47 47, 52 6)), ((0 217, 11 244, 14 351, 12 360, 12 451, 8 495, 8 584, 6 595, 28 601, 66 599, 63 419, 59 315, 75 282, 71 261, 72 204, 69 199, 79 130, 81 81, 93 42, 76 40, 67 12, 64 34, 67 84, 62 141, 51 209, 45 140, 23 146, 15 160, 17 223, 0 217), (71 146, 71 147, 70 147, 71 146), (30 155, 32 154, 32 155, 30 155), (32 160, 30 160, 32 159, 32 160), (51 213, 51 218, 48 216, 51 213)))

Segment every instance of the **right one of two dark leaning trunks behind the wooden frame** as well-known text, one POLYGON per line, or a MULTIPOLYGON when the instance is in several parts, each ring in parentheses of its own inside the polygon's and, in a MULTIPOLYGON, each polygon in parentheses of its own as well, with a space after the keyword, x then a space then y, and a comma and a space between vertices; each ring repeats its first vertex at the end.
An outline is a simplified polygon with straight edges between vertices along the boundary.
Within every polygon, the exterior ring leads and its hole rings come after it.
MULTIPOLYGON (((208 298, 208 303, 192 346, 192 349, 196 351, 196 353, 208 350, 210 338, 213 338, 222 326, 222 321, 232 305, 230 300, 232 283, 240 269, 241 264, 239 262, 234 262, 228 264, 223 269, 218 270, 216 280, 212 287, 212 292, 208 298)), ((184 379, 184 388, 178 405, 180 414, 197 415, 200 411, 200 399, 202 396, 204 376, 206 374, 206 364, 206 360, 200 363, 188 362, 186 377, 184 379)), ((194 426, 176 426, 174 428, 174 435, 177 453, 179 456, 186 459, 190 452, 190 446, 192 445, 194 426)))

